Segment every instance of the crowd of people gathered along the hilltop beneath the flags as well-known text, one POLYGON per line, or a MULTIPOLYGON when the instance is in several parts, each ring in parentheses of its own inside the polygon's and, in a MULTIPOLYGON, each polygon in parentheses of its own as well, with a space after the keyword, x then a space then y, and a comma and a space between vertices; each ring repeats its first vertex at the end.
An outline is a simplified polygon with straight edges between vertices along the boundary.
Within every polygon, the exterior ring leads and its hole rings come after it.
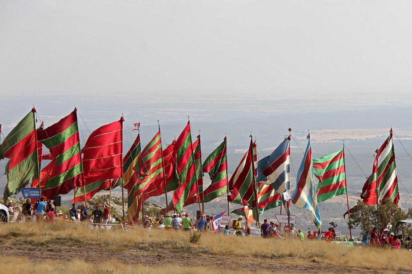
MULTIPOLYGON (((103 209, 100 205, 96 205, 95 209, 90 213, 89 208, 85 204, 76 206, 75 204, 69 210, 69 217, 63 215, 63 212, 59 210, 56 212, 55 206, 51 200, 45 200, 41 198, 36 200, 34 204, 30 203, 30 199, 26 199, 23 203, 22 214, 28 217, 35 217, 36 221, 49 221, 54 222, 55 218, 67 219, 69 221, 82 221, 91 224, 91 227, 98 226, 100 228, 117 228, 117 225, 121 225, 123 220, 119 219, 115 214, 110 216, 109 206, 104 203, 103 209)), ((14 212, 16 207, 13 205, 13 201, 9 200, 7 208, 9 212, 14 212)), ((201 232, 211 232, 213 216, 201 214, 199 219, 190 219, 188 213, 173 213, 165 214, 163 218, 153 219, 149 216, 144 216, 140 222, 140 227, 146 230, 151 229, 164 229, 164 230, 184 230, 192 231, 197 230, 201 232)), ((231 225, 226 224, 225 227, 220 228, 219 231, 224 235, 237 235, 237 236, 249 236, 251 232, 251 224, 249 221, 243 222, 243 216, 238 216, 231 225)), ((256 224, 257 225, 257 224, 256 224)), ((309 230, 305 236, 301 230, 297 230, 292 223, 290 226, 284 226, 283 232, 281 226, 274 221, 268 222, 265 219, 260 226, 260 236, 263 238, 296 238, 300 240, 325 240, 332 242, 335 240, 336 233, 334 226, 328 228, 328 231, 322 233, 313 233, 309 230)), ((370 246, 382 246, 392 249, 412 249, 412 242, 410 237, 403 237, 402 234, 395 235, 395 233, 389 233, 389 229, 385 228, 378 236, 378 229, 375 227, 370 232, 367 232, 361 236, 361 242, 370 246)), ((344 239, 346 241, 346 239, 344 239)), ((349 241, 354 241, 352 237, 349 241)))

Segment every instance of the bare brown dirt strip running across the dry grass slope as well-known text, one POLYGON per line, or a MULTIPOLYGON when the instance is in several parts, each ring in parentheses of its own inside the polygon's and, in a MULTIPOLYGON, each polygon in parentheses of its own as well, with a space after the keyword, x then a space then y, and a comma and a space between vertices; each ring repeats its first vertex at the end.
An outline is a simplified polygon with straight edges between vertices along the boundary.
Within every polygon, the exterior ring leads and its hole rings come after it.
MULTIPOLYGON (((92 242, 92 241, 91 241, 92 242)), ((286 272, 286 273, 386 273, 361 267, 346 267, 331 265, 328 262, 316 259, 302 258, 259 258, 251 254, 249 258, 227 255, 210 254, 201 249, 169 249, 159 246, 119 245, 115 248, 111 244, 58 242, 39 244, 39 242, 2 239, 0 256, 16 256, 29 258, 48 258, 50 260, 85 260, 97 263, 104 260, 119 260, 125 264, 144 264, 147 266, 162 266, 177 264, 188 266, 204 266, 228 270, 249 270, 250 272, 286 272), (33 254, 36 254, 33 256, 33 254), (234 268, 236 266, 236 268, 234 268)))

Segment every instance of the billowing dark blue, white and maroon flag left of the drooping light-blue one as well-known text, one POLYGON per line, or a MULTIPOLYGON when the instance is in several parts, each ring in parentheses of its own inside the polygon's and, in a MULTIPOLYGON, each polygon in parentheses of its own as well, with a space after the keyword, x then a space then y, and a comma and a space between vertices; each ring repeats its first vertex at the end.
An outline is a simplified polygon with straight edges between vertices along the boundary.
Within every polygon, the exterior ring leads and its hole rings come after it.
POLYGON ((290 138, 289 135, 272 154, 258 162, 258 182, 271 184, 279 193, 290 186, 290 138))

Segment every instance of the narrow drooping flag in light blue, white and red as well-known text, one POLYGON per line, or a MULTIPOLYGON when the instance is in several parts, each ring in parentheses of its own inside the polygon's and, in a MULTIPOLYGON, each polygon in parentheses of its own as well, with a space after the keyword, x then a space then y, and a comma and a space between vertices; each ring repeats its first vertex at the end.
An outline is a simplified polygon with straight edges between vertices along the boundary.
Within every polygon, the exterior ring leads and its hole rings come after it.
POLYGON ((321 228, 322 219, 316 197, 315 176, 312 161, 312 149, 310 135, 302 163, 296 176, 296 189, 292 193, 292 202, 298 208, 306 208, 313 214, 313 221, 317 228, 321 228))

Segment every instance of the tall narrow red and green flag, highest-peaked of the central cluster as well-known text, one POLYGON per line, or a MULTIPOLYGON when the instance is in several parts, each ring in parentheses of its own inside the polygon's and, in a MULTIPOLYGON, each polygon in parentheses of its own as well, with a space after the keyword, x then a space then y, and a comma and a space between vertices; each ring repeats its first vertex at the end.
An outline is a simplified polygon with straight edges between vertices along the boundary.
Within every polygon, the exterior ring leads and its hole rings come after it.
POLYGON ((173 193, 173 206, 180 213, 189 198, 190 190, 197 182, 190 121, 176 140, 173 158, 176 159, 175 172, 179 179, 179 187, 173 193))

